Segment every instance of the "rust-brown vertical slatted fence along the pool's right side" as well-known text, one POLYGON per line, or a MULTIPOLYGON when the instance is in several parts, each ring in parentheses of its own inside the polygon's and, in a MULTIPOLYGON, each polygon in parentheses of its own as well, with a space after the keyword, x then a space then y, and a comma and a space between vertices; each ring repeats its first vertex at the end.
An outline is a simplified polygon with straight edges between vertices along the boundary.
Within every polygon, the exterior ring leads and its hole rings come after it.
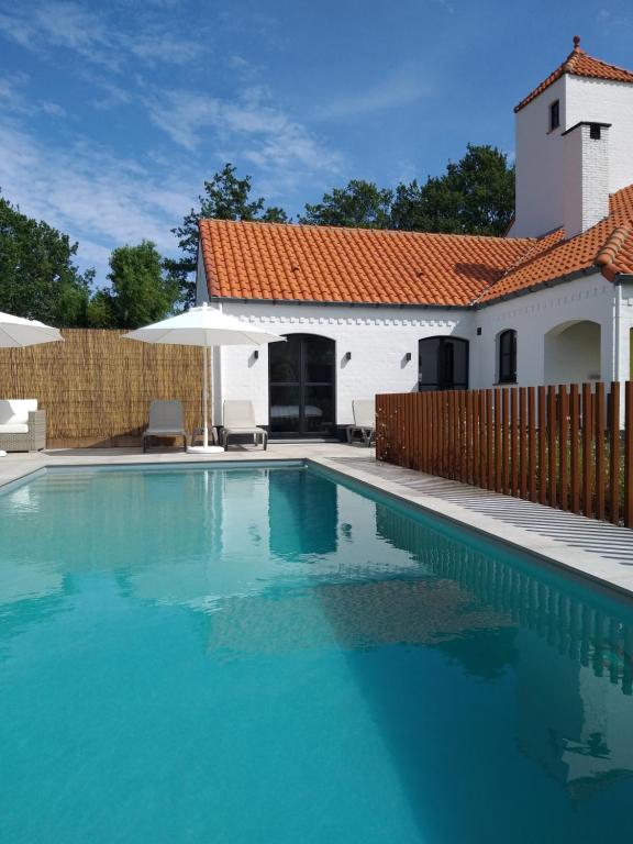
POLYGON ((376 456, 633 528, 633 382, 377 396, 376 456))

